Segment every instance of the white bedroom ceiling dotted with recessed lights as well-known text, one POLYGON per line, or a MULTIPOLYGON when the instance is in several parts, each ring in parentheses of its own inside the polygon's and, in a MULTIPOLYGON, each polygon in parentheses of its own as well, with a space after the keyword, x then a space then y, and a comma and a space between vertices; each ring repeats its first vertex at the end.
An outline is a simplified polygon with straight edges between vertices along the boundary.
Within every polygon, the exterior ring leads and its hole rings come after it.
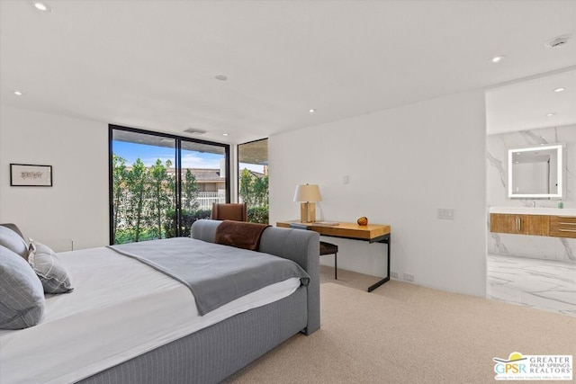
POLYGON ((576 1, 46 4, 0 1, 2 104, 228 143, 576 66, 576 1))

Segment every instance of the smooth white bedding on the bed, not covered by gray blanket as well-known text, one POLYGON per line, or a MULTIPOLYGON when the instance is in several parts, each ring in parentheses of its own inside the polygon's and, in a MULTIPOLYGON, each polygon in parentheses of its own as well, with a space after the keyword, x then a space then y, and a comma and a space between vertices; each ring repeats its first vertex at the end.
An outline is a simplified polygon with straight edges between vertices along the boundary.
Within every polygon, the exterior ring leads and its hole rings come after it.
POLYGON ((200 317, 183 284, 101 247, 58 254, 74 291, 49 295, 38 326, 0 331, 0 382, 68 383, 293 293, 289 279, 200 317))

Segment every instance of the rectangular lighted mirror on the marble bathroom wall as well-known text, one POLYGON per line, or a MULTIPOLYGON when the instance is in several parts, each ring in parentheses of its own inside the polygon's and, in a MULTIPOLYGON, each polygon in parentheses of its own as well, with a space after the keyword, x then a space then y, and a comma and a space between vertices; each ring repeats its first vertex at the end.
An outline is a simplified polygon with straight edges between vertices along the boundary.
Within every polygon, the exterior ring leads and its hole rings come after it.
POLYGON ((562 145, 509 149, 508 169, 509 198, 562 199, 562 145))

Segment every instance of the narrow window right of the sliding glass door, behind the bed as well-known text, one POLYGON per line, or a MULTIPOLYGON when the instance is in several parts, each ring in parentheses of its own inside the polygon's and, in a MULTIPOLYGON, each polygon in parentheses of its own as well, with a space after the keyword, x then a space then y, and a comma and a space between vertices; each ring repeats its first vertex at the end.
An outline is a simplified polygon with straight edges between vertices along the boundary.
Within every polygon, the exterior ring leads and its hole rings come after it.
POLYGON ((248 221, 268 224, 268 139, 238 145, 238 201, 248 221))

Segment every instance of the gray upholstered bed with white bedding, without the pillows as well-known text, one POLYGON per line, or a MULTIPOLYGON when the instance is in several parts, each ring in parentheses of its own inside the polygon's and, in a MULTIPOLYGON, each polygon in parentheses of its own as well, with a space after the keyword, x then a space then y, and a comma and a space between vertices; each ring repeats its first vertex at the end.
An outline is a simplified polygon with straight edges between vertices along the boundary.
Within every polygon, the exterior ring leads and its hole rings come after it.
POLYGON ((0 330, 0 382, 220 382, 293 335, 318 330, 319 235, 268 227, 257 252, 214 244, 222 223, 198 220, 192 238, 156 240, 156 249, 185 246, 212 257, 216 247, 250 263, 287 259, 305 278, 281 277, 225 304, 218 298, 212 308, 185 281, 131 257, 130 248, 126 255, 110 247, 60 253, 74 290, 45 294, 38 325, 0 330))

